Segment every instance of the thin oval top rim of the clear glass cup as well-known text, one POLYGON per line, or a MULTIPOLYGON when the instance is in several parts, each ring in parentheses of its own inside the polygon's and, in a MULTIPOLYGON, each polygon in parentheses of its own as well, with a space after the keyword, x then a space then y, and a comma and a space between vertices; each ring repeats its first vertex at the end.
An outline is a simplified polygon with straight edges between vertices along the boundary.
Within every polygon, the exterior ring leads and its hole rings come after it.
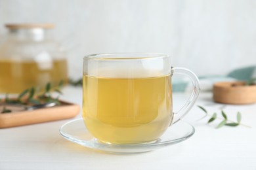
POLYGON ((83 59, 98 59, 98 60, 121 60, 121 59, 156 59, 168 58, 168 54, 154 52, 123 52, 123 53, 102 53, 90 54, 83 59), (133 56, 134 55, 134 56, 133 56), (116 56, 116 57, 113 57, 116 56), (125 57, 127 56, 127 57, 125 57), (137 57, 136 57, 137 56, 137 57))

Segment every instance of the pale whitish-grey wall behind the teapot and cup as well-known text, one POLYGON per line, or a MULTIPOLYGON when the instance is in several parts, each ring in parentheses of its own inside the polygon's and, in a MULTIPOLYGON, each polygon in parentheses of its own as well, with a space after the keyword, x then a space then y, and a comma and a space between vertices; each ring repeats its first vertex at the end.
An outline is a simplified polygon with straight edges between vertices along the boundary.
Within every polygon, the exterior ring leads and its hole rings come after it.
POLYGON ((0 43, 7 23, 53 23, 72 78, 83 56, 106 52, 166 53, 199 76, 226 75, 256 64, 255 21, 254 0, 0 0, 0 43))

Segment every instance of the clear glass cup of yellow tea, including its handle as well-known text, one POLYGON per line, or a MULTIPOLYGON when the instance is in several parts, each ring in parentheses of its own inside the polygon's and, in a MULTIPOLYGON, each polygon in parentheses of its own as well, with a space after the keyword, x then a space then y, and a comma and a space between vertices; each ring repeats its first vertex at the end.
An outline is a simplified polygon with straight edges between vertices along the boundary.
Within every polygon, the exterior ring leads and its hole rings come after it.
POLYGON ((93 54, 83 59, 83 120, 102 143, 137 144, 156 141, 181 120, 200 93, 197 76, 171 67, 167 54, 93 54), (192 94, 173 112, 172 75, 186 75, 192 94))

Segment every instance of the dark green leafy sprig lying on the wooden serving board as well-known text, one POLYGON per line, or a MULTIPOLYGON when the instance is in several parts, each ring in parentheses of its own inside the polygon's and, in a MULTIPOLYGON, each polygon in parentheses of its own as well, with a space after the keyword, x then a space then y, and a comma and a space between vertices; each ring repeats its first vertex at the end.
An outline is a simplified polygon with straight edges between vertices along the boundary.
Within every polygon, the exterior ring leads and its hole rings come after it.
POLYGON ((17 105, 24 105, 24 106, 35 106, 45 103, 56 103, 56 105, 60 105, 60 101, 58 98, 62 94, 60 91, 60 88, 63 86, 63 81, 61 80, 58 83, 58 86, 52 86, 51 83, 47 83, 45 85, 44 90, 40 90, 39 88, 28 88, 21 92, 18 97, 15 99, 10 99, 8 93, 5 95, 5 99, 1 101, 1 103, 4 105, 3 109, 1 110, 1 113, 8 113, 12 112, 12 110, 7 109, 5 105, 8 104, 17 104, 17 105), (60 95, 57 97, 53 97, 51 95, 51 92, 57 92, 60 95))

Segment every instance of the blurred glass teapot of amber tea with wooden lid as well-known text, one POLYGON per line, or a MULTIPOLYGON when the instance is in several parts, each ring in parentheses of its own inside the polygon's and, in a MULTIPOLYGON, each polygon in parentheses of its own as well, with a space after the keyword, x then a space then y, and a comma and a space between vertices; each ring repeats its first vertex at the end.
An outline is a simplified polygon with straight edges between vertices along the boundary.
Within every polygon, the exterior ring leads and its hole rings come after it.
POLYGON ((49 37, 53 24, 7 24, 9 33, 0 46, 0 93, 68 82, 65 54, 49 37))

